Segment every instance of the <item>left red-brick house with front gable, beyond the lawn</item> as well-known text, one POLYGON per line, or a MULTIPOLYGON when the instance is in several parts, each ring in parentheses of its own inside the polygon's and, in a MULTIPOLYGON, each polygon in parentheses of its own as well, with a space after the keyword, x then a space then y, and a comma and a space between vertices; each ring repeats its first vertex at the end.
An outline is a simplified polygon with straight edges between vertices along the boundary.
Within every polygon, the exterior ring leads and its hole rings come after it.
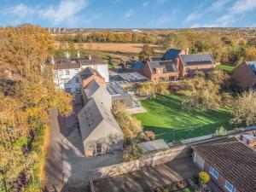
POLYGON ((178 78, 177 67, 173 61, 147 61, 142 74, 154 83, 178 78))

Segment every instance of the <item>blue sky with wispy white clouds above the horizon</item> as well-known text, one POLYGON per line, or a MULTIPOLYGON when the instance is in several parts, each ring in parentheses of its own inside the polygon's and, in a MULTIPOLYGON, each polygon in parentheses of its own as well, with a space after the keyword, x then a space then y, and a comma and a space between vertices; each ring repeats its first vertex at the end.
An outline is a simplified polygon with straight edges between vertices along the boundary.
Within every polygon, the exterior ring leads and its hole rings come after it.
POLYGON ((256 0, 1 0, 0 26, 256 27, 256 0))

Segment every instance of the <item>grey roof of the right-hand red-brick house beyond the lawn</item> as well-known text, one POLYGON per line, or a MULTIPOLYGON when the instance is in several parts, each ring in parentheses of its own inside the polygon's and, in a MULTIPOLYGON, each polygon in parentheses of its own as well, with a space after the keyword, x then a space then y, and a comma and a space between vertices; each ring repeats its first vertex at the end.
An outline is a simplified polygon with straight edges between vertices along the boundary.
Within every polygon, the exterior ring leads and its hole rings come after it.
POLYGON ((184 66, 215 65, 215 61, 210 54, 189 54, 179 55, 179 57, 184 66))

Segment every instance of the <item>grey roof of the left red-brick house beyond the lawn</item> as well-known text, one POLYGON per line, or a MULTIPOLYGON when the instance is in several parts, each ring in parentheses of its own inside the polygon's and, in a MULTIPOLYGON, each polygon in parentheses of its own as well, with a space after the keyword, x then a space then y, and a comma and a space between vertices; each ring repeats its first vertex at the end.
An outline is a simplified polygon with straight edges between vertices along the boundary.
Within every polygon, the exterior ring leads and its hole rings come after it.
POLYGON ((155 68, 164 67, 164 73, 177 73, 177 67, 173 61, 148 61, 150 70, 155 73, 155 68))

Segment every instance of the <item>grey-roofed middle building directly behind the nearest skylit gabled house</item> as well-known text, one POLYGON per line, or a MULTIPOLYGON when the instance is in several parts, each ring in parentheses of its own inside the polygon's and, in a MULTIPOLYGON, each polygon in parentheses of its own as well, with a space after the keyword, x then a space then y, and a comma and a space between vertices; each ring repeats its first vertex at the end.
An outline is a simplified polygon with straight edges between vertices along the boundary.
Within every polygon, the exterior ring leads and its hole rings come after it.
POLYGON ((106 86, 98 83, 95 79, 90 81, 89 84, 82 90, 83 103, 86 104, 91 98, 97 102, 101 102, 104 108, 112 108, 112 96, 108 93, 106 86))

